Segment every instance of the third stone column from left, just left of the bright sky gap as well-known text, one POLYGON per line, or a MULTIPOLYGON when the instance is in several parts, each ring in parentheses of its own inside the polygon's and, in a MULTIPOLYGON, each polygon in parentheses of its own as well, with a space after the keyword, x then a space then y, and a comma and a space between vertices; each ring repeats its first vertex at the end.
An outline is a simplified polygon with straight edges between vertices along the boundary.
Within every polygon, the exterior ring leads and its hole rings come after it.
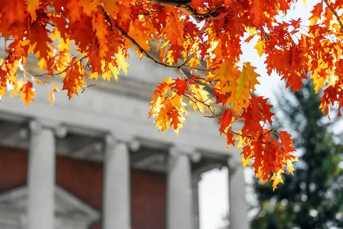
POLYGON ((193 228, 191 164, 180 146, 169 150, 167 164, 167 229, 193 228))

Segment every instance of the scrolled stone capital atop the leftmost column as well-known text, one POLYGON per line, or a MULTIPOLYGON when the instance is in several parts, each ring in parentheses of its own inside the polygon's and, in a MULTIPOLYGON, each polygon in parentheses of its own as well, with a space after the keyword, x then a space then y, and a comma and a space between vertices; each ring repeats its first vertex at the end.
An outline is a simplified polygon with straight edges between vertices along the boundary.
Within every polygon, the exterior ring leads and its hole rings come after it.
POLYGON ((68 133, 66 126, 48 119, 32 119, 28 126, 34 134, 40 133, 43 129, 51 129, 58 138, 64 138, 68 133))

